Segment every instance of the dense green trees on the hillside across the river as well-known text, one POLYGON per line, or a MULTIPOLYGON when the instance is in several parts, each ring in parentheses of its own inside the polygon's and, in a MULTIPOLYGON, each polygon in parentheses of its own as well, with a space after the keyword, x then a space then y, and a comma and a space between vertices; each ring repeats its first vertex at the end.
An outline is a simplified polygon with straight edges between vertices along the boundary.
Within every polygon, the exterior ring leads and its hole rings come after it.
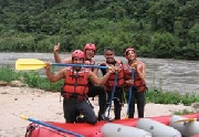
POLYGON ((1 0, 0 51, 62 52, 95 43, 117 55, 199 59, 198 0, 1 0))

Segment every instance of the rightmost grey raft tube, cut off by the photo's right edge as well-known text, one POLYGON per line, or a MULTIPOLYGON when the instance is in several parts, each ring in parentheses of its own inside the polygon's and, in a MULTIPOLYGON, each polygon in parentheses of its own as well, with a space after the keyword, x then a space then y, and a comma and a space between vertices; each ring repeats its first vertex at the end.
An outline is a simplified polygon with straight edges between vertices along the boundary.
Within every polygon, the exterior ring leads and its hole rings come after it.
POLYGON ((180 122, 177 120, 188 119, 182 116, 172 115, 170 118, 170 126, 178 129, 182 136, 190 137, 199 135, 199 122, 180 122))

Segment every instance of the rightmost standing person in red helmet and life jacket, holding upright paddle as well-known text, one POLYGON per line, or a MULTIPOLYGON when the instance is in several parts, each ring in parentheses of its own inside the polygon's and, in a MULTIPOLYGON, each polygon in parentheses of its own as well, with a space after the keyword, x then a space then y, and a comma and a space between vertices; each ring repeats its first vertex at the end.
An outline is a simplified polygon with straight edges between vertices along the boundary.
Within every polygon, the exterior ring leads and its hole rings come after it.
POLYGON ((144 62, 137 61, 136 51, 133 48, 128 48, 125 50, 125 56, 127 59, 126 64, 124 64, 124 72, 125 72, 125 85, 127 92, 127 101, 130 98, 128 104, 129 107, 129 118, 134 118, 135 113, 135 103, 137 103, 137 112, 138 117, 144 117, 144 109, 145 109, 145 92, 146 87, 146 66, 144 62), (132 78, 132 73, 133 78, 132 78), (132 88, 130 88, 132 86, 132 88), (129 97, 129 93, 132 89, 132 96, 129 97))

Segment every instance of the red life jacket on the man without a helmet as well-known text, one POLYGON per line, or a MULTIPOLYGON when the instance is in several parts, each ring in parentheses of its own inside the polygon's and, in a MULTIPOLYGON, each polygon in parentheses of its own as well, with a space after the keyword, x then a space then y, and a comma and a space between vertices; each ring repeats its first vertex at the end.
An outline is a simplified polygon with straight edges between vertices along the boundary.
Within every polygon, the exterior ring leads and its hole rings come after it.
MULTIPOLYGON (((108 65, 108 63, 103 63, 104 65, 108 65)), ((117 82, 115 85, 115 76, 116 73, 112 73, 108 77, 108 81, 104 85, 105 91, 112 92, 113 87, 122 87, 124 85, 124 70, 123 70, 123 63, 119 60, 116 60, 115 66, 119 66, 122 68, 121 72, 117 73, 117 82)))

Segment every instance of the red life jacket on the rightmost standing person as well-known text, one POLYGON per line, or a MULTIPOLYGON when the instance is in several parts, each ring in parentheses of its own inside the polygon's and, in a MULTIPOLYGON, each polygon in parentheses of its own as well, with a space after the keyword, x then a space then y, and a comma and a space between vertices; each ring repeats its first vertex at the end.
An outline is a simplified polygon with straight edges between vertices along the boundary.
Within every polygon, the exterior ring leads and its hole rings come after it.
MULTIPOLYGON (((142 62, 137 62, 138 65, 142 65, 143 63, 142 62)), ((139 68, 140 72, 143 72, 143 65, 142 67, 139 68)), ((128 65, 128 64, 124 64, 124 73, 125 73, 125 81, 128 81, 132 78, 132 67, 128 65)), ((145 92, 146 91, 146 84, 145 82, 140 78, 139 74, 137 73, 137 71, 135 71, 135 74, 134 74, 134 85, 138 92, 145 92)), ((130 84, 126 84, 126 89, 129 91, 129 87, 132 85, 130 84)))

